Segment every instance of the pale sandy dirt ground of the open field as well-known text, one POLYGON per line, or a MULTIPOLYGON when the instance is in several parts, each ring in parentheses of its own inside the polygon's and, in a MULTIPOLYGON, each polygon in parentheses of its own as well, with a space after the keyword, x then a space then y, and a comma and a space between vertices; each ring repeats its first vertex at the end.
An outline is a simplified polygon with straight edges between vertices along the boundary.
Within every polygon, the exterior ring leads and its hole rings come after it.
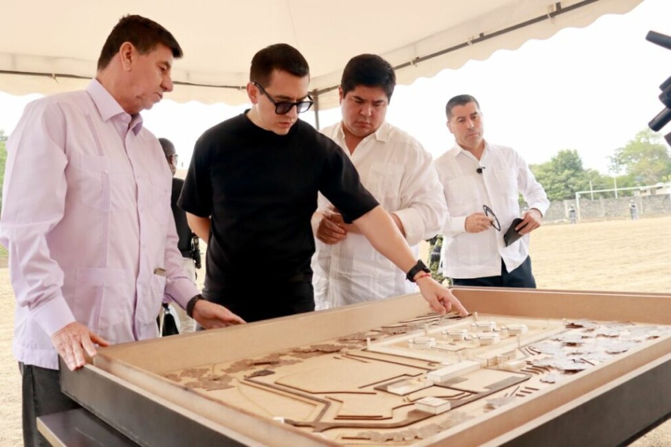
MULTIPOLYGON (((546 225, 531 237, 538 288, 671 293, 671 216, 546 225)), ((21 382, 12 357, 14 295, 0 268, 0 446, 20 446, 21 382)), ((631 444, 671 445, 671 421, 631 444)))

